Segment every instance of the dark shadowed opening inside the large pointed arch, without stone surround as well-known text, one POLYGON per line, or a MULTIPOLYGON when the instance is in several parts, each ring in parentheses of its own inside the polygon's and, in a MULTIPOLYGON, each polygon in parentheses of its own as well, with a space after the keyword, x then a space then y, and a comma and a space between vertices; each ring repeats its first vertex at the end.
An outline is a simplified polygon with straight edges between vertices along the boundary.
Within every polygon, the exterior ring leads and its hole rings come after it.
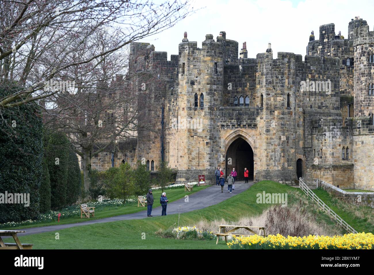
POLYGON ((241 137, 234 140, 227 149, 225 177, 231 173, 233 168, 237 171, 236 180, 244 180, 244 168, 249 171, 249 180, 253 180, 253 150, 241 137))

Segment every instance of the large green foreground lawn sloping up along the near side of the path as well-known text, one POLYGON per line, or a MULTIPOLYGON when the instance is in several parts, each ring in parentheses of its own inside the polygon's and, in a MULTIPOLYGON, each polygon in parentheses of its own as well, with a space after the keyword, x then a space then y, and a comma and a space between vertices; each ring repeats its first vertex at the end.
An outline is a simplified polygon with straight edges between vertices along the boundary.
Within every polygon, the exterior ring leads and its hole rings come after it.
MULTIPOLYGON (((233 196, 219 204, 201 210, 182 213, 180 226, 193 226, 197 221, 225 220, 235 221, 242 216, 261 214, 270 204, 257 204, 257 193, 288 193, 288 204, 298 199, 289 191, 295 190, 274 181, 261 181, 248 190, 233 196)), ((182 194, 184 195, 184 194, 182 194)), ((155 196, 156 197, 156 196, 155 196)), ((324 214, 318 214, 324 216, 324 214)), ((330 221, 331 222, 331 221, 330 221)), ((21 242, 34 244, 34 249, 227 249, 224 241, 218 245, 215 241, 192 241, 164 239, 154 232, 177 227, 178 215, 152 217, 142 220, 123 220, 98 223, 84 227, 72 227, 56 232, 46 232, 21 236, 21 242), (145 239, 142 236, 145 235, 145 239)), ((217 229, 218 230, 218 229, 217 229)))

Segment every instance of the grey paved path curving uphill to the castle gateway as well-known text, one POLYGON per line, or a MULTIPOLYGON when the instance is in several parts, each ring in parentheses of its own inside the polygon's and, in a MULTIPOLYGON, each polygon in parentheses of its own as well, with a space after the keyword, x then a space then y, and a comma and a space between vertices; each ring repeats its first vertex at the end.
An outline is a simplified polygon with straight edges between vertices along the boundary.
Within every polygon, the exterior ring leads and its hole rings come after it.
MULTIPOLYGON (((235 184, 235 190, 233 190, 232 193, 227 192, 227 185, 225 184, 223 193, 221 193, 221 186, 210 186, 208 188, 205 188, 199 192, 193 193, 188 196, 188 202, 185 202, 185 198, 178 199, 177 201, 171 202, 168 204, 168 207, 166 209, 166 213, 168 215, 171 214, 178 214, 179 208, 180 213, 186 213, 193 210, 199 210, 211 205, 218 204, 220 202, 225 201, 228 198, 231 198, 232 196, 235 196, 245 190, 247 190, 249 187, 251 187, 253 183, 236 183, 235 184), (180 207, 181 206, 181 207, 180 207)), ((166 191, 167 195, 167 191, 166 191)), ((186 192, 186 195, 188 195, 188 192, 186 192)), ((154 199, 154 207, 152 210, 152 216, 157 217, 161 216, 161 206, 158 201, 159 198, 154 199)), ((70 223, 70 224, 59 224, 59 225, 51 225, 51 226, 43 226, 43 227, 32 227, 32 228, 26 228, 26 229, 17 229, 17 230, 25 230, 26 233, 18 233, 19 236, 22 235, 30 235, 30 234, 36 234, 36 233, 43 233, 43 232, 51 232, 51 231, 58 231, 65 228, 75 227, 75 226, 84 226, 94 223, 107 223, 110 221, 121 221, 121 220, 134 220, 134 219, 152 219, 151 217, 147 217, 147 208, 145 208, 144 211, 139 211, 137 213, 132 214, 125 214, 120 216, 114 216, 114 217, 108 217, 98 220, 87 220, 82 221, 80 223, 70 223)))

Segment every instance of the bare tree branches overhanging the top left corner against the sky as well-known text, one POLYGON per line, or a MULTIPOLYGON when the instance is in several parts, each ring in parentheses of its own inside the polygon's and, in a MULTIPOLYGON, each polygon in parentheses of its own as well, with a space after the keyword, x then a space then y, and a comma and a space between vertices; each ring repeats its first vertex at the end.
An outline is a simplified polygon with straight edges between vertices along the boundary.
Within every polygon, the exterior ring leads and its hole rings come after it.
POLYGON ((0 107, 56 94, 44 89, 50 80, 67 80, 72 70, 84 76, 106 55, 172 27, 191 11, 179 0, 1 0, 0 84, 18 82, 22 89, 1 98, 0 107), (116 43, 80 55, 99 29, 117 37, 116 43))

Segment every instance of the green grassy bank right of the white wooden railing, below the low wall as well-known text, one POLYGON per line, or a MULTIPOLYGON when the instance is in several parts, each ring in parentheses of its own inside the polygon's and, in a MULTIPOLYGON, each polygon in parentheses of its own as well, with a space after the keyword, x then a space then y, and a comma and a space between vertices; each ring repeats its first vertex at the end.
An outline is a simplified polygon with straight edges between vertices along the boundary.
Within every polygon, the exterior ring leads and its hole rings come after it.
POLYGON ((359 218, 355 215, 356 211, 365 211, 365 213, 367 212, 368 214, 373 215, 372 208, 366 206, 356 208, 352 205, 349 206, 349 211, 344 211, 341 207, 338 207, 338 205, 334 202, 334 199, 325 190, 314 189, 313 192, 355 230, 358 232, 374 233, 374 225, 368 221, 367 217, 359 218))

